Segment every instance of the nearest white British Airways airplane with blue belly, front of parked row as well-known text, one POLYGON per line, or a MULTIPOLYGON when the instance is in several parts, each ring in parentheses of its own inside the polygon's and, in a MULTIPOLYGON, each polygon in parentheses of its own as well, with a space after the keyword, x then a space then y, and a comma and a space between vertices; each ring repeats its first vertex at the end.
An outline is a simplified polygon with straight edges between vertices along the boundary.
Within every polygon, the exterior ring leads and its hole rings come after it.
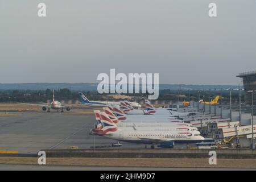
POLYGON ((151 144, 151 148, 155 148, 155 144, 169 148, 173 147, 174 143, 198 143, 204 140, 204 137, 196 134, 197 131, 126 130, 119 129, 105 113, 100 114, 100 119, 102 131, 97 135, 119 141, 151 144))

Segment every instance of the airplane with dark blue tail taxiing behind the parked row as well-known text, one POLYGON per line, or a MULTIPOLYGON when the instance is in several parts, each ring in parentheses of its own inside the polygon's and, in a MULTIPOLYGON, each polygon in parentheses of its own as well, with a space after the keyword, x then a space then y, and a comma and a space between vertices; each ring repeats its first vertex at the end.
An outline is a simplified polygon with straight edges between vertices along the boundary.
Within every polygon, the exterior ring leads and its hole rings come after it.
MULTIPOLYGON (((79 96, 81 98, 81 102, 83 105, 86 106, 91 106, 91 107, 104 107, 108 104, 115 104, 115 105, 121 105, 121 102, 112 102, 112 101, 90 101, 88 100, 88 98, 85 97, 85 95, 81 92, 79 92, 79 96)), ((141 107, 140 104, 138 104, 137 102, 129 102, 130 105, 132 105, 135 108, 139 108, 141 107)))

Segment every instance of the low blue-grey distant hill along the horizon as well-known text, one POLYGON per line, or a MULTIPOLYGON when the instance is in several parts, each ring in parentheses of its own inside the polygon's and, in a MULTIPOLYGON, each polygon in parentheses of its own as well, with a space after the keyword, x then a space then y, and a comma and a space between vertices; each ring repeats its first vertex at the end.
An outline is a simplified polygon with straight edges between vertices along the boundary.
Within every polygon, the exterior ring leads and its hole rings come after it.
MULTIPOLYGON (((0 84, 0 90, 46 90, 68 88, 73 91, 91 91, 97 90, 98 84, 90 83, 24 83, 24 84, 0 84)), ((185 84, 160 84, 159 89, 170 90, 203 90, 203 89, 237 89, 235 85, 185 85, 185 84)))

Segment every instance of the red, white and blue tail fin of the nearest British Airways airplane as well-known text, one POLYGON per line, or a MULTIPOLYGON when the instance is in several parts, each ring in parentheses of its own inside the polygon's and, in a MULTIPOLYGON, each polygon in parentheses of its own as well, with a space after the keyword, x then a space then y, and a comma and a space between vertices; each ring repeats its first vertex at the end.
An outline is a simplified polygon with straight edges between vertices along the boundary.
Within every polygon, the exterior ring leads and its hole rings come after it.
POLYGON ((98 135, 106 135, 109 132, 115 132, 118 130, 117 125, 109 118, 108 114, 105 112, 101 112, 100 114, 101 124, 102 124, 102 131, 98 132, 98 135))

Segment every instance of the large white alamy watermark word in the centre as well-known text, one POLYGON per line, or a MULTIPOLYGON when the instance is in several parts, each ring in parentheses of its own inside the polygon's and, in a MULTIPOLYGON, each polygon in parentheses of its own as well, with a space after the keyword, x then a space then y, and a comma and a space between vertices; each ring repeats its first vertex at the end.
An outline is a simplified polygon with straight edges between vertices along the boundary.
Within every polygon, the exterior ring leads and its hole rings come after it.
POLYGON ((115 75, 115 69, 110 69, 110 77, 107 73, 100 73, 97 80, 101 81, 97 87, 100 94, 148 93, 148 100, 156 100, 159 96, 159 73, 129 73, 126 76, 125 73, 115 75))

